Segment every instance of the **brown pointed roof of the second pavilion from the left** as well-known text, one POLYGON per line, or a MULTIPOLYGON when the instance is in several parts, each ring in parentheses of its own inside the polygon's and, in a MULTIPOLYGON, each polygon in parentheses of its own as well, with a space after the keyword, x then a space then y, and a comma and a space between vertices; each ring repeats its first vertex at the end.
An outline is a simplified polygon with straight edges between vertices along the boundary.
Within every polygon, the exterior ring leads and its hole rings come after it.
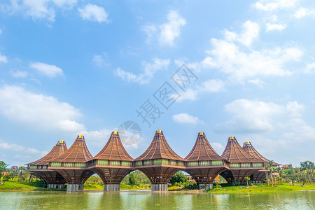
POLYGON ((92 159, 90 151, 85 144, 84 136, 78 135, 76 141, 71 147, 59 157, 52 159, 50 162, 85 162, 92 159))

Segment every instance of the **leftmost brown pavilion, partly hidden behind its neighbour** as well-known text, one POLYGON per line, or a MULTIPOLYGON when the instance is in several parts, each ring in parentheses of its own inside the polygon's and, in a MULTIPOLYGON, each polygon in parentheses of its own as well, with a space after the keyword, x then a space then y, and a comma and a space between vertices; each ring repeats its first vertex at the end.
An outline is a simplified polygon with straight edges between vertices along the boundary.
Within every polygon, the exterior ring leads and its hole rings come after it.
POLYGON ((58 141, 52 150, 43 158, 27 163, 27 171, 43 180, 43 182, 47 184, 47 188, 64 188, 66 180, 58 172, 48 169, 48 162, 62 155, 67 149, 65 141, 58 141))

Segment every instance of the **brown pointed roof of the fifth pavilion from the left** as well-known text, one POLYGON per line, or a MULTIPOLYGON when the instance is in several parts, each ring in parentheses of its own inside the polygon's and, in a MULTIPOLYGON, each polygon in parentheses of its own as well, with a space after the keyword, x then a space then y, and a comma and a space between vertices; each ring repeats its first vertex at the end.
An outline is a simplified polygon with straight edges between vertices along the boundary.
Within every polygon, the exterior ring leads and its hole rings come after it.
POLYGON ((199 132, 195 146, 185 158, 186 161, 225 160, 211 147, 204 132, 199 132))

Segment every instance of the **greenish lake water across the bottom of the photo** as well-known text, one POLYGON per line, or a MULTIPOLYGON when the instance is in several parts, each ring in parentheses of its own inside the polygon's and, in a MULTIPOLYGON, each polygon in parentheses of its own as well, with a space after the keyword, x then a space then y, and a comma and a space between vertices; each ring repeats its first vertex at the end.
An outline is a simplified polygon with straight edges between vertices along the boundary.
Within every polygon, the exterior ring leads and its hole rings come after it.
POLYGON ((0 192, 0 209, 315 209, 315 190, 218 195, 0 192))

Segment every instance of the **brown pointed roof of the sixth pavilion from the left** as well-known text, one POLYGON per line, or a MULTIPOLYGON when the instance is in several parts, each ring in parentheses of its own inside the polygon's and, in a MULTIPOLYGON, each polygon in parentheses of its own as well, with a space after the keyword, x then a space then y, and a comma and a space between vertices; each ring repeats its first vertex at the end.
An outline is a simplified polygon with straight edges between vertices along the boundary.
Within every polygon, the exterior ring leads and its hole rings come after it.
POLYGON ((246 151, 241 148, 235 137, 229 137, 228 144, 226 144, 225 150, 221 156, 232 163, 264 162, 246 153, 246 151))

